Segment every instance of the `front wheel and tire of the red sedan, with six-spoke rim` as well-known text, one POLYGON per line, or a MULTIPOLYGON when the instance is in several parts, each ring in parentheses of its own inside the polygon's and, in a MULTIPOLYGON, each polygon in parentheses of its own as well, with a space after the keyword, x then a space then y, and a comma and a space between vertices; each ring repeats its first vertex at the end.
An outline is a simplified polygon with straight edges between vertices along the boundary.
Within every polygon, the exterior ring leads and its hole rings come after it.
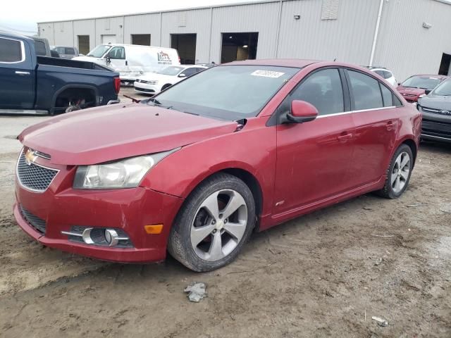
POLYGON ((199 184, 180 209, 168 251, 197 272, 221 268, 237 257, 255 218, 254 197, 245 182, 216 174, 199 184))

